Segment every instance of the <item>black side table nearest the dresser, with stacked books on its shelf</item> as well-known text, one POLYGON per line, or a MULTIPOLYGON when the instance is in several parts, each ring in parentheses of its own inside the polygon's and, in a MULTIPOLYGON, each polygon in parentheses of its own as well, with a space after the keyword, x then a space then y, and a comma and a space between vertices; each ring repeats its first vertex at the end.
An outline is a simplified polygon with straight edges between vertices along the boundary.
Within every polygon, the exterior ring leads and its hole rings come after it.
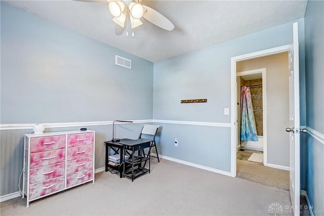
MULTIPOLYGON (((132 139, 120 139, 120 141, 129 141, 132 139)), ((113 142, 111 140, 109 141, 105 141, 104 142, 106 145, 106 160, 105 160, 105 171, 107 172, 109 168, 115 169, 117 171, 119 171, 119 177, 122 178, 123 177, 123 158, 124 158, 124 145, 123 144, 119 144, 119 142, 113 142), (110 164, 108 164, 109 159, 108 159, 108 150, 109 148, 113 151, 111 155, 115 155, 115 154, 120 154, 120 164, 118 166, 112 166, 110 164)))

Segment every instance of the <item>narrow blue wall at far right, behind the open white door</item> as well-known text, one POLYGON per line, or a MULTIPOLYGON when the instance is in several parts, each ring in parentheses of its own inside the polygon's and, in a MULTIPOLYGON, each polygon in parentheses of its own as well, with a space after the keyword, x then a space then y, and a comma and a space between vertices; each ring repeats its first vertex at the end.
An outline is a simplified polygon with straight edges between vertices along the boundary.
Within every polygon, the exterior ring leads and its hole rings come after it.
MULTIPOLYGON (((307 126, 324 134, 324 2, 308 1, 305 14, 307 126)), ((322 135, 323 136, 323 135, 322 135)), ((324 143, 307 134, 306 192, 314 215, 324 214, 324 143)))

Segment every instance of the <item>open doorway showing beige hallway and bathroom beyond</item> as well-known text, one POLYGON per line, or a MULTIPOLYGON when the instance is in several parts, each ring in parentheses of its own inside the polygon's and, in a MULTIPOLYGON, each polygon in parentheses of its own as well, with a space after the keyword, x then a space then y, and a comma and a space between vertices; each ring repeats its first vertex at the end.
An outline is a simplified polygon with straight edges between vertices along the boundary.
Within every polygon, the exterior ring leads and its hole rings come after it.
POLYGON ((284 130, 289 122, 288 75, 288 52, 236 62, 236 174, 284 190, 289 190, 289 140, 284 130), (251 93, 257 140, 239 136, 242 87, 251 93))

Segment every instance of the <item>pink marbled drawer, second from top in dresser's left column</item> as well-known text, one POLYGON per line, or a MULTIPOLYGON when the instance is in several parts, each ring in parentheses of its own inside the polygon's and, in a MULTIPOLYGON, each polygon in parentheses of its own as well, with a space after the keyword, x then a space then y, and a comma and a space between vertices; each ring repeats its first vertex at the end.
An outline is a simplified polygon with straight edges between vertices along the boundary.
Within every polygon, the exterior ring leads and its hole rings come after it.
POLYGON ((30 154, 30 168, 47 166, 65 161, 65 149, 30 154))

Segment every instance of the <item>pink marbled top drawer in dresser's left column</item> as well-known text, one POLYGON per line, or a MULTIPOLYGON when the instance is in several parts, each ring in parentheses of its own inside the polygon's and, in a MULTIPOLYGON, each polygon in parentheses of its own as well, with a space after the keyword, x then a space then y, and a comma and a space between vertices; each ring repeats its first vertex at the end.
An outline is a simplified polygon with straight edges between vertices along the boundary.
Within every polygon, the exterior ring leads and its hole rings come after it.
POLYGON ((65 148, 66 135, 44 136, 30 139, 30 153, 45 152, 65 148))

